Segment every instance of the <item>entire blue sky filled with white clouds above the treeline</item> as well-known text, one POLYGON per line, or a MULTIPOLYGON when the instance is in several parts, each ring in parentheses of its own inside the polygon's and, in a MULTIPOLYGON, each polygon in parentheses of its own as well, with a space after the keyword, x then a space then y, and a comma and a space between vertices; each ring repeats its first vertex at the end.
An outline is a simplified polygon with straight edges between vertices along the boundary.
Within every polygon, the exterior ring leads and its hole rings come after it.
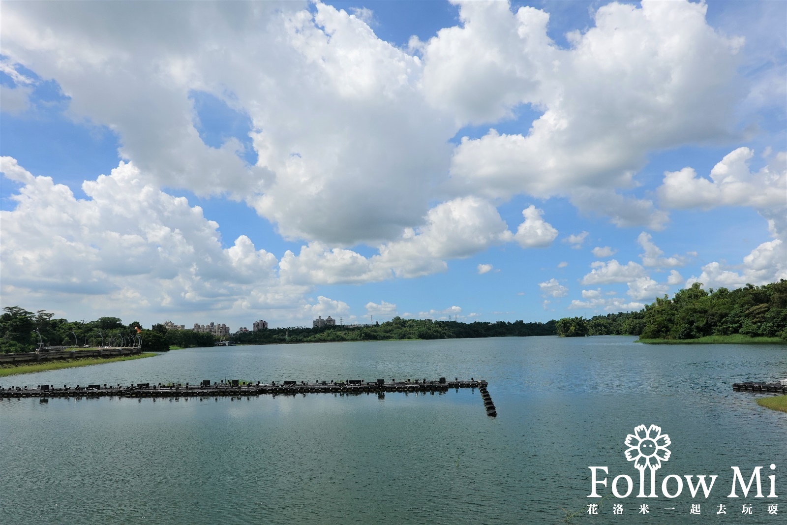
POLYGON ((545 321, 785 278, 785 16, 6 4, 2 305, 545 321))

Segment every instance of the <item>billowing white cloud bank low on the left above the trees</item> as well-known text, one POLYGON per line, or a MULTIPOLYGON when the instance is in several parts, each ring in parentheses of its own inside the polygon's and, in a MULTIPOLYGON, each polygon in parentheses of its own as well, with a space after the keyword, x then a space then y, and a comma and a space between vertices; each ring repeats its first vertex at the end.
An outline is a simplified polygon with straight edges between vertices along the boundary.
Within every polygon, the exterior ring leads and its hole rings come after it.
POLYGON ((96 310, 197 312, 232 309, 257 288, 259 308, 303 303, 303 290, 279 286, 271 253, 246 235, 223 248, 218 224, 185 198, 157 190, 135 165, 120 163, 110 176, 85 181, 87 199, 32 176, 12 158, 2 157, 0 169, 24 184, 12 197, 16 208, 0 212, 6 301, 76 294, 96 310), (261 290, 273 288, 265 298, 261 290))

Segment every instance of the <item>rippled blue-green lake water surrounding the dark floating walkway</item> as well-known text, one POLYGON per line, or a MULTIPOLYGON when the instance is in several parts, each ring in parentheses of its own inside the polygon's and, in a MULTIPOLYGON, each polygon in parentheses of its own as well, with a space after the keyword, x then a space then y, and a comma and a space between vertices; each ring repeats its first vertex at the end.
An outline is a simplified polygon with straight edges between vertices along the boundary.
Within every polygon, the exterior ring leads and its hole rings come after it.
POLYGON ((519 524, 563 523, 566 511, 582 511, 571 523, 787 523, 787 413, 731 388, 787 377, 784 346, 645 346, 630 337, 244 346, 0 385, 441 376, 489 381, 497 418, 470 389, 384 399, 3 400, 0 523, 519 524), (650 423, 670 435, 672 455, 656 473, 660 497, 643 500, 623 441, 650 423), (590 465, 608 467, 608 486, 630 475, 634 492, 588 516, 590 465), (727 498, 730 467, 748 482, 758 465, 763 494, 775 474, 779 498, 727 498), (719 479, 707 500, 686 487, 667 499, 668 474, 719 479), (647 515, 637 513, 643 503, 647 515), (752 515, 741 514, 743 503, 752 515), (778 515, 768 515, 769 503, 780 504, 778 515))

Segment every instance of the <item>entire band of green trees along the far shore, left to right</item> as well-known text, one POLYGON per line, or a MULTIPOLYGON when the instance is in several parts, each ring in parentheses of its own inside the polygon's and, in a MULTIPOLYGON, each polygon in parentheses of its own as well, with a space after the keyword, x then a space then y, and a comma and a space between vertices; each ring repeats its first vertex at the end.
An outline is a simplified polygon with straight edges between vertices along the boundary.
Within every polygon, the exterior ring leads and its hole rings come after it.
MULTIPOLYGON (((87 323, 53 319, 45 310, 28 312, 7 306, 0 315, 0 353, 32 352, 43 346, 132 346, 167 352, 170 349, 214 346, 218 338, 193 330, 168 330, 163 324, 142 328, 117 317, 87 323)), ((404 319, 400 316, 376 324, 329 327, 283 327, 238 331, 227 337, 238 345, 301 342, 429 340, 454 338, 528 337, 558 335, 636 335, 645 344, 787 344, 787 279, 761 287, 747 284, 736 290, 704 290, 694 283, 674 294, 656 298, 634 312, 609 313, 590 319, 564 317, 546 323, 523 320, 475 321, 404 319)))

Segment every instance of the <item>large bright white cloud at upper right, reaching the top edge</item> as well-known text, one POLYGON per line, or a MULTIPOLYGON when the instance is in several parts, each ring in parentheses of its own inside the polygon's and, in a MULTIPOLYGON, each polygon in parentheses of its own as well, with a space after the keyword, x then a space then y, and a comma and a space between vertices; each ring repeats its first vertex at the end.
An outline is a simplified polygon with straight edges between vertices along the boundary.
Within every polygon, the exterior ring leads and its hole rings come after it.
MULTIPOLYGON (((630 185, 648 151, 729 135, 742 39, 708 26, 706 9, 610 3, 596 11, 593 28, 572 33, 571 47, 560 49, 538 9, 461 3, 463 27, 440 31, 424 48, 424 79, 440 75, 425 81, 427 91, 475 123, 519 104, 542 114, 527 133, 462 139, 451 165, 456 182, 496 197, 611 190, 630 185), (445 72, 449 58, 462 82, 445 72)), ((594 209, 608 213, 606 205, 594 209)), ((653 213, 641 205, 637 224, 653 213)), ((629 221, 633 211, 613 219, 629 221)), ((645 220, 658 225, 664 216, 645 220)))

